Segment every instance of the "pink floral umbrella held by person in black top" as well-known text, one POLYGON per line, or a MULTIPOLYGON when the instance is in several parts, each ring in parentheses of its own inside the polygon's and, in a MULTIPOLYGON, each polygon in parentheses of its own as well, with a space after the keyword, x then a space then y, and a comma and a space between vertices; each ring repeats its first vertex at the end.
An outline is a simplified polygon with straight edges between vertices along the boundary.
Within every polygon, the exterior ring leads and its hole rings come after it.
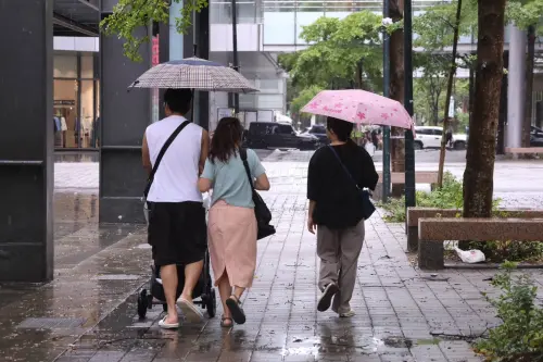
POLYGON ((413 120, 397 101, 361 89, 323 90, 303 109, 303 113, 339 120, 413 129, 413 120))

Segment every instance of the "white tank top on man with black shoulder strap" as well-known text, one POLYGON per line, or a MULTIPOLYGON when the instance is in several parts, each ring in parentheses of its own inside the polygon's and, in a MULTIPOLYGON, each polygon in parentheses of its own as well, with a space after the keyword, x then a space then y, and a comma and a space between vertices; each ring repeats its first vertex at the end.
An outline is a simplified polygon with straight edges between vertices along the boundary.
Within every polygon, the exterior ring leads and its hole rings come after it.
MULTIPOLYGON (((182 116, 172 115, 147 127, 146 138, 153 166, 162 146, 185 121, 182 116)), ((202 202, 198 189, 202 132, 202 127, 189 123, 169 145, 154 175, 147 198, 149 201, 202 202)))

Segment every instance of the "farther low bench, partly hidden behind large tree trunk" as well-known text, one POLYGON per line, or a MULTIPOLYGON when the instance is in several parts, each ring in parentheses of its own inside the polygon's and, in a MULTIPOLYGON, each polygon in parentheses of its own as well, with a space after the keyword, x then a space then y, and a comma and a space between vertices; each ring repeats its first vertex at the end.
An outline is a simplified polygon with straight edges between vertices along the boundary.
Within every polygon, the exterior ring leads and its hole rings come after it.
MULTIPOLYGON (((458 215, 462 215, 462 210, 459 209, 407 209, 407 251, 415 252, 418 250, 418 221, 420 219, 456 217, 458 215)), ((493 217, 543 219, 543 210, 500 209, 493 217)))

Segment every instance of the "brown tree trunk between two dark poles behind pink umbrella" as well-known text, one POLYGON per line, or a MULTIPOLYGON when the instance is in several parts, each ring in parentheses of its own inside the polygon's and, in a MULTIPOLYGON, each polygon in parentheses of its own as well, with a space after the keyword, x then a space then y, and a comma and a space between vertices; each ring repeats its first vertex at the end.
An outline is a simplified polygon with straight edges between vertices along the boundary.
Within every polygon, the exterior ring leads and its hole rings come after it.
MULTIPOLYGON (((403 20, 404 0, 388 0, 390 17, 394 22, 403 20)), ((404 32, 395 30, 390 36, 390 98, 404 102, 404 32)), ((391 127, 392 172, 405 172, 405 129, 391 127)), ((404 190, 403 184, 392 185, 392 196, 401 197, 404 190)))

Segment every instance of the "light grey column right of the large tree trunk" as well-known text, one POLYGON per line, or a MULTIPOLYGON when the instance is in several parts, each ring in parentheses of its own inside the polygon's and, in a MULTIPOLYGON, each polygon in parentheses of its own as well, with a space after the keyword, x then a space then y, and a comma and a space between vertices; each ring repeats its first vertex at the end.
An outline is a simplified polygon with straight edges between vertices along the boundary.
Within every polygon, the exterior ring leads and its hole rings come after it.
POLYGON ((509 25, 506 147, 522 145, 526 101, 526 32, 509 25))

